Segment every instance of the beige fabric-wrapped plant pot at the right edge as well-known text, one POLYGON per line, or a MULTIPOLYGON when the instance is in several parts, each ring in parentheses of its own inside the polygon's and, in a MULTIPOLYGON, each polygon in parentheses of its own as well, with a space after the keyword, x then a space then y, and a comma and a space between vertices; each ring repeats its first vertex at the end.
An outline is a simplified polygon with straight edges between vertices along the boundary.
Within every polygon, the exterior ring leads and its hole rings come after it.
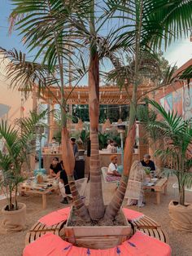
POLYGON ((168 205, 169 216, 172 227, 185 232, 192 232, 192 205, 186 203, 179 205, 176 201, 171 201, 168 205))

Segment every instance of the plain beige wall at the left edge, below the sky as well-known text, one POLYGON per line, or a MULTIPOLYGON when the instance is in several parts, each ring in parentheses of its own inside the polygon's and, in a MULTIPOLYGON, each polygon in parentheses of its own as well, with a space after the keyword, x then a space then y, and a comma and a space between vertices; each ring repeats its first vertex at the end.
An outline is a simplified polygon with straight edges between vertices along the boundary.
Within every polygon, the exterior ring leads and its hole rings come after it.
MULTIPOLYGON (((20 117, 21 93, 17 90, 9 89, 10 81, 6 76, 6 65, 8 60, 2 60, 0 55, 0 103, 11 107, 8 113, 8 121, 12 123, 15 118, 20 117)), ((29 110, 32 110, 32 96, 24 99, 24 117, 28 116, 29 110)))

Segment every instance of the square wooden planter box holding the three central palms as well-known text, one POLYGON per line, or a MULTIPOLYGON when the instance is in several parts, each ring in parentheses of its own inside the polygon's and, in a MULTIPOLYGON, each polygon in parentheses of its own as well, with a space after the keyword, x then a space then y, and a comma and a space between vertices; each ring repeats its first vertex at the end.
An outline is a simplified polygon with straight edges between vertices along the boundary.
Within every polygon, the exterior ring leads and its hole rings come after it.
POLYGON ((64 239, 73 245, 90 249, 108 249, 129 239, 132 228, 120 210, 122 226, 68 226, 72 219, 72 209, 64 227, 64 239))

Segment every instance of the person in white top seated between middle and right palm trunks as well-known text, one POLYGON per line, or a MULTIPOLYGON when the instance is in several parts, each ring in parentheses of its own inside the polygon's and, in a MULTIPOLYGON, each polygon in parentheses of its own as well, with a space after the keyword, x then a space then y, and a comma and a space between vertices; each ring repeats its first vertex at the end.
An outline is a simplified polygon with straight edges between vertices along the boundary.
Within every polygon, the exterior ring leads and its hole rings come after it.
POLYGON ((107 170, 107 181, 120 180, 121 174, 117 170, 117 157, 116 155, 111 156, 111 163, 107 170))

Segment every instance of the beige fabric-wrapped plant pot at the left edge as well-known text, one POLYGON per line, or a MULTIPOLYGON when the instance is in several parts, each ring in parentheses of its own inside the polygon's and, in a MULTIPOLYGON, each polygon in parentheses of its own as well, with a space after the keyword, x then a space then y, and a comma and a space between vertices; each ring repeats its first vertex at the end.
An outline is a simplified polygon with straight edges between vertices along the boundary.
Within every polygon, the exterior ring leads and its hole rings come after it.
POLYGON ((26 205, 18 203, 19 210, 8 211, 6 206, 2 208, 2 232, 20 232, 24 230, 26 223, 26 205))

